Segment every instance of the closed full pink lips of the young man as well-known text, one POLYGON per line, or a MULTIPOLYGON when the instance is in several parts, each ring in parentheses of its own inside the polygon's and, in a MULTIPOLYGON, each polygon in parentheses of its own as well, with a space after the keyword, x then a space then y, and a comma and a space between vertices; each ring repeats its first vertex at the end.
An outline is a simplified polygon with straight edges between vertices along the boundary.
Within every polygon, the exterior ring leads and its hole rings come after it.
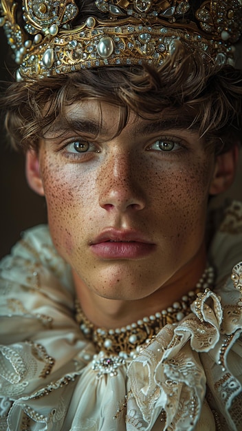
POLYGON ((102 259, 137 259, 155 249, 140 233, 107 229, 91 242, 91 251, 102 259))

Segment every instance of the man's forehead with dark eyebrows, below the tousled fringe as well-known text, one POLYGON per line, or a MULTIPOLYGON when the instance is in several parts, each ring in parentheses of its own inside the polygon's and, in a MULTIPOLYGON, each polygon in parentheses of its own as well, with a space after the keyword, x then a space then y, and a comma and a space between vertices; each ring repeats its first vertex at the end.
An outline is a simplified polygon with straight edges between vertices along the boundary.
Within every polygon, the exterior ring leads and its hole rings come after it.
POLYGON ((198 132, 195 109, 166 108, 157 113, 133 112, 125 107, 98 100, 85 100, 63 107, 45 137, 56 136, 69 130, 85 134, 119 134, 129 129, 133 135, 151 134, 165 130, 198 132))

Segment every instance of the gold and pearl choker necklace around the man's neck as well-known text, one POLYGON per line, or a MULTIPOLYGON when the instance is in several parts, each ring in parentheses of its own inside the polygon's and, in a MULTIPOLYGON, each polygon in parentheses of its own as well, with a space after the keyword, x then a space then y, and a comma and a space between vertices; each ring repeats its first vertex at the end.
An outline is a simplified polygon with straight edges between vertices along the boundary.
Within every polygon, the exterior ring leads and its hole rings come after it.
POLYGON ((84 315, 78 299, 76 299, 76 322, 78 322, 85 338, 94 343, 97 352, 114 353, 126 359, 127 357, 132 357, 136 350, 140 350, 139 347, 142 344, 150 341, 166 324, 179 322, 186 317, 190 313, 190 305, 195 301, 197 293, 209 288, 213 282, 214 269, 208 266, 194 290, 182 296, 179 302, 174 302, 173 306, 154 315, 143 317, 143 319, 139 319, 135 323, 115 329, 96 328, 84 315))

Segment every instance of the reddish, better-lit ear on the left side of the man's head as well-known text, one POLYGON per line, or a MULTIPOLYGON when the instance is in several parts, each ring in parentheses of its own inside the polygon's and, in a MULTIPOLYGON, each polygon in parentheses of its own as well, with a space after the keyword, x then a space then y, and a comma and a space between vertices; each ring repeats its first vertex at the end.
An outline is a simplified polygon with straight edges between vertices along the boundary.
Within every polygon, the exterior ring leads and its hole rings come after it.
POLYGON ((40 174, 39 155, 34 149, 27 151, 25 173, 30 188, 39 195, 44 196, 45 192, 40 174))

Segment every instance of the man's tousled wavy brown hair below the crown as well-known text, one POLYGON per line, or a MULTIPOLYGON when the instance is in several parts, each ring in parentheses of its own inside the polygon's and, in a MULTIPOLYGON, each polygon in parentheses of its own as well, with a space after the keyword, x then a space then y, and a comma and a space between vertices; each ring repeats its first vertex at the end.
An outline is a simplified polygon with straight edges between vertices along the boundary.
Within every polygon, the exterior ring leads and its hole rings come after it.
POLYGON ((17 149, 38 149, 65 107, 95 99, 120 107, 120 133, 130 110, 145 118, 163 109, 192 110, 192 127, 212 151, 226 151, 241 141, 242 72, 232 66, 206 67, 199 56, 183 52, 170 56, 159 68, 151 65, 100 67, 60 74, 37 81, 12 83, 1 105, 5 127, 17 149))

